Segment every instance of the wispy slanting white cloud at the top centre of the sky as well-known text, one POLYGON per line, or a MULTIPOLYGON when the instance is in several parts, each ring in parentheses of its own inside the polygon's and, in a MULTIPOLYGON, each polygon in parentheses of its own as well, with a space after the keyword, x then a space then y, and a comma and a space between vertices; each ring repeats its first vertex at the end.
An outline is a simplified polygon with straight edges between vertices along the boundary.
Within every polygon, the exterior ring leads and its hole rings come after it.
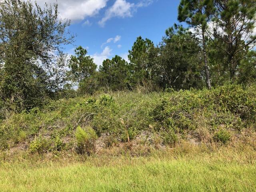
POLYGON ((148 6, 153 0, 141 0, 137 4, 127 2, 126 0, 116 0, 116 2, 108 8, 105 16, 99 21, 100 26, 104 27, 106 21, 113 17, 132 17, 132 14, 137 11, 137 8, 148 6))

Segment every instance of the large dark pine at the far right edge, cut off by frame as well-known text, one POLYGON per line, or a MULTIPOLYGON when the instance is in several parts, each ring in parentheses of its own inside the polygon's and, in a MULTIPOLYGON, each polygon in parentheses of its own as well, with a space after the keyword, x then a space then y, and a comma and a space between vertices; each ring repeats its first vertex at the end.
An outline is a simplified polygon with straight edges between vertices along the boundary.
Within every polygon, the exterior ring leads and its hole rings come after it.
POLYGON ((255 57, 247 54, 256 45, 256 1, 255 0, 215 0, 214 30, 209 31, 215 45, 226 56, 224 70, 230 79, 238 72, 242 60, 255 57))

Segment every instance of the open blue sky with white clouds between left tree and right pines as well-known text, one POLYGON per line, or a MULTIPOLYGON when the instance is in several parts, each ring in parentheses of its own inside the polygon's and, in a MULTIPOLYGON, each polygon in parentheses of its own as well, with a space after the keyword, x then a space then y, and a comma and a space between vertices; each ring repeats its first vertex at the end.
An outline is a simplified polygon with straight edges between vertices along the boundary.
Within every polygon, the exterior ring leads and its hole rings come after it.
MULTIPOLYGON (((38 0, 39 3, 54 0, 38 0)), ((177 23, 180 0, 58 0, 62 18, 69 18, 74 44, 83 46, 100 65, 106 58, 128 50, 138 36, 158 44, 165 30, 177 23)), ((75 46, 66 46, 68 54, 75 46)))

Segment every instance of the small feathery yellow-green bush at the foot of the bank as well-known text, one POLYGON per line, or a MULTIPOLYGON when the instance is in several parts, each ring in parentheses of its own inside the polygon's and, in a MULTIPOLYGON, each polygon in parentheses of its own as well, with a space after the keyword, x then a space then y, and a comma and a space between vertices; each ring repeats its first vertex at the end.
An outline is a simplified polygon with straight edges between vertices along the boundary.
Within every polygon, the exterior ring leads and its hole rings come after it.
POLYGON ((94 152, 97 135, 91 127, 87 126, 84 130, 81 126, 78 126, 75 136, 78 145, 77 150, 80 154, 86 153, 90 155, 94 152))

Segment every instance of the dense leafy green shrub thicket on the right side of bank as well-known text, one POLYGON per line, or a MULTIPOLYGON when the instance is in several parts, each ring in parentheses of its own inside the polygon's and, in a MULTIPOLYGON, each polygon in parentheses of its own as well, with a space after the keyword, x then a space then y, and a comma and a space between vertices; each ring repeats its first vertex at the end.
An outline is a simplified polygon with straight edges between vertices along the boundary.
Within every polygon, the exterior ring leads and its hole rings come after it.
POLYGON ((226 85, 211 91, 191 90, 172 92, 161 98, 152 110, 156 129, 195 130, 197 117, 207 118, 209 128, 225 124, 241 129, 241 122, 255 123, 256 98, 254 90, 226 85))

